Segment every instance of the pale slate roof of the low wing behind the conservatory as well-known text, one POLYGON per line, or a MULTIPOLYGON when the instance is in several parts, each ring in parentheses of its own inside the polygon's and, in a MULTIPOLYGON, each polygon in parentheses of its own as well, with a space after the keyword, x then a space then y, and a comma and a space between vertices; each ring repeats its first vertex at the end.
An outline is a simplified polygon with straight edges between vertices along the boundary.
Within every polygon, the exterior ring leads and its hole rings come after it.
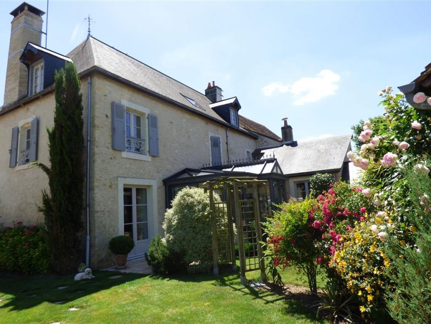
POLYGON ((275 155, 284 175, 340 170, 350 149, 351 135, 298 141, 298 146, 282 145, 261 150, 275 155))

